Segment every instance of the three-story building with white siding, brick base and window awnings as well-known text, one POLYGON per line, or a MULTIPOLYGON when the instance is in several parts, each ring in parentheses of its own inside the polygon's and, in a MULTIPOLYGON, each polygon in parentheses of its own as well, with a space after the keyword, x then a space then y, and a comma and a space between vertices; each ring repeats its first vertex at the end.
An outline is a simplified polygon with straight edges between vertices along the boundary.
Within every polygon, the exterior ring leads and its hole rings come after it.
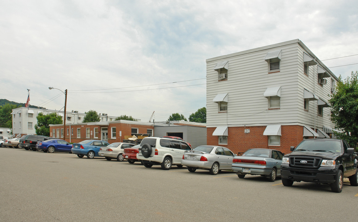
POLYGON ((206 63, 208 145, 287 153, 304 138, 332 134, 327 101, 338 78, 300 40, 206 63))

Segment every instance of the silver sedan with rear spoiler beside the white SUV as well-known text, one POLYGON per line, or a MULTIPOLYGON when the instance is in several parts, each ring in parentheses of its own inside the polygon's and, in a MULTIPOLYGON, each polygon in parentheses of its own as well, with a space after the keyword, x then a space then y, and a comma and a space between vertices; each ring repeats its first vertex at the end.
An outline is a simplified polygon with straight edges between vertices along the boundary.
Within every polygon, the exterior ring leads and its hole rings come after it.
POLYGON ((217 175, 220 170, 231 170, 234 156, 236 155, 226 147, 198 146, 184 152, 182 165, 187 166, 190 172, 201 169, 217 175))

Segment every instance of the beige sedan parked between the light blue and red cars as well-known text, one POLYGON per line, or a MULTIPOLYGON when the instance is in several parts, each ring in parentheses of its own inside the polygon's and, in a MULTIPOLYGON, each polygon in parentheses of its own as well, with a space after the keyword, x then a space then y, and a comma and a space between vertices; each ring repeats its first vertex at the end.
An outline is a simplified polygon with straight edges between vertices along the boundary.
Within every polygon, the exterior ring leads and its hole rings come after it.
POLYGON ((132 143, 111 143, 108 146, 102 146, 98 151, 98 156, 106 157, 106 160, 117 159, 122 162, 124 160, 124 148, 133 147, 132 143))

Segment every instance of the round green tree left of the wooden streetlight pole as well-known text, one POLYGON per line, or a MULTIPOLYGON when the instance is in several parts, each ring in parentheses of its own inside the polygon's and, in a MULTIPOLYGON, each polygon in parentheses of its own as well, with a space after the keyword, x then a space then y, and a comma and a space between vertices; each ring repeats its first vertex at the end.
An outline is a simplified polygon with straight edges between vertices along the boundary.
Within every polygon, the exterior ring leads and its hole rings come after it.
POLYGON ((35 132, 37 135, 50 136, 50 124, 63 124, 62 117, 55 112, 47 115, 40 112, 36 118, 37 123, 35 124, 35 132))

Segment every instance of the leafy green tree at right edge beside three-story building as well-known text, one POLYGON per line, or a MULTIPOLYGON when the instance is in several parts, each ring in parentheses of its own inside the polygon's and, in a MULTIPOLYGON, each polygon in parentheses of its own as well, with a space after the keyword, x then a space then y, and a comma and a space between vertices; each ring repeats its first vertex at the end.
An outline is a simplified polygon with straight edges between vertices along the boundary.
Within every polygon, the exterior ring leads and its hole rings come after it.
POLYGON ((343 81, 339 76, 339 80, 328 101, 331 106, 330 119, 336 129, 344 130, 343 133, 334 132, 337 138, 347 140, 355 148, 358 142, 358 71, 352 71, 351 76, 343 81))

